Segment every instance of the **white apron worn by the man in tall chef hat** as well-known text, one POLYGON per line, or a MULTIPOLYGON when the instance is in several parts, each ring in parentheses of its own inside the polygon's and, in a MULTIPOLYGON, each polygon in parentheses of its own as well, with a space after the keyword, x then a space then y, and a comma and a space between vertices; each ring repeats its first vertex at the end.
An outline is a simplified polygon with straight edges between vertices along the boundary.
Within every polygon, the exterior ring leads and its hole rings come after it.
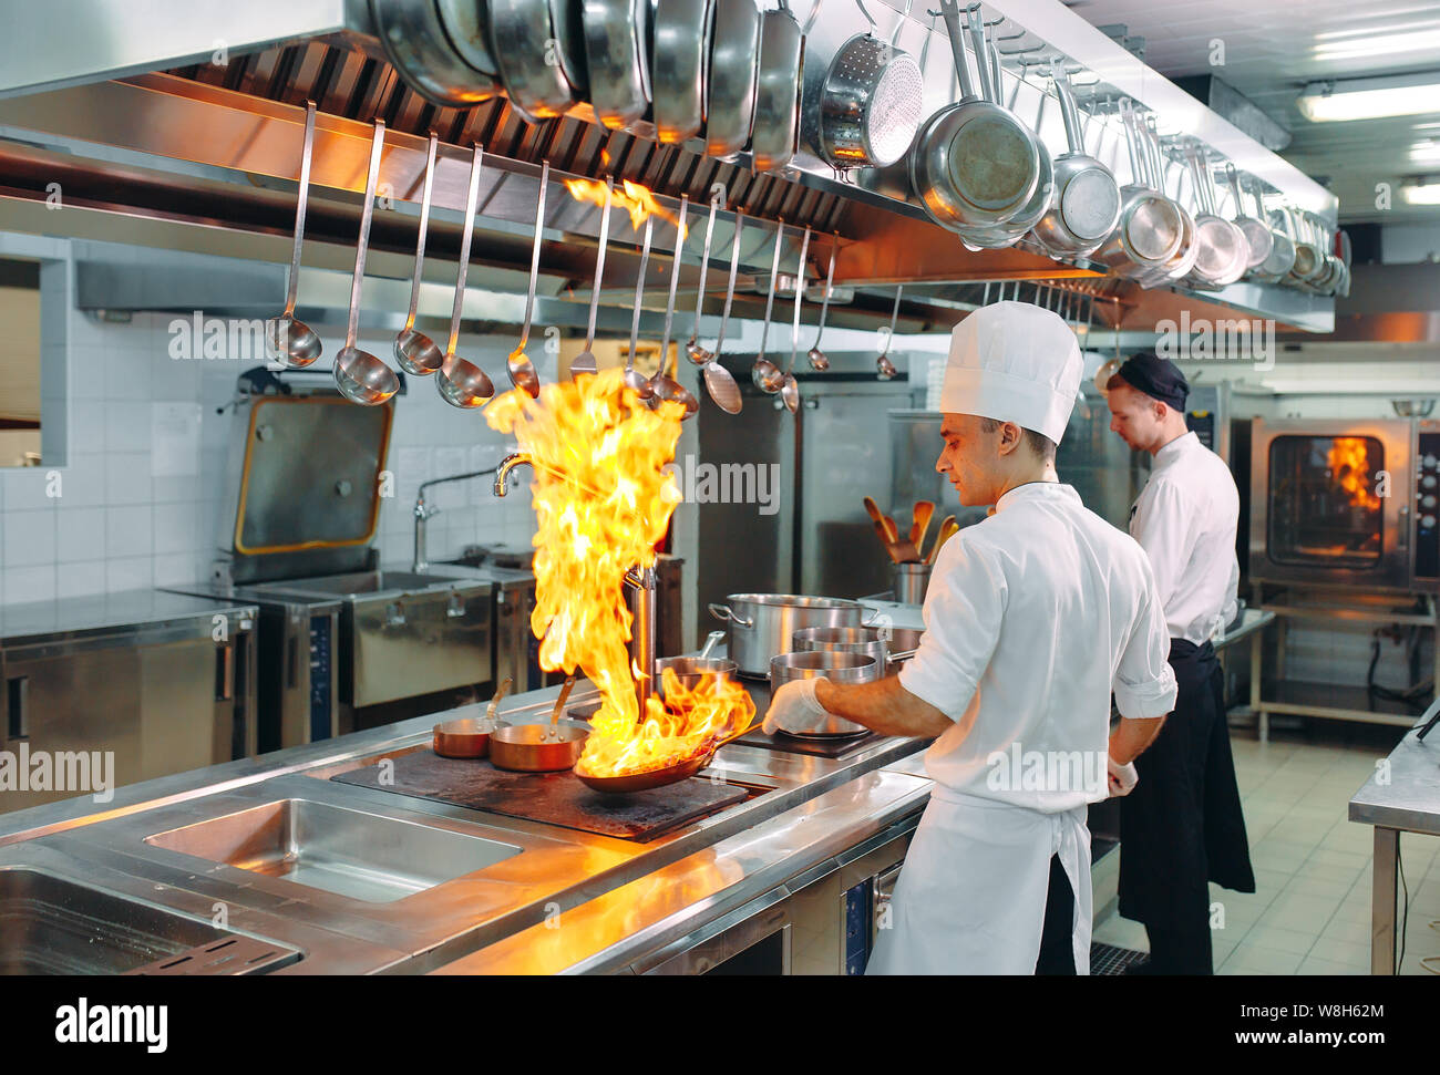
POLYGON ((936 786, 867 974, 1034 974, 1058 855, 1074 892, 1076 970, 1090 973, 1086 807, 1040 813, 936 786))

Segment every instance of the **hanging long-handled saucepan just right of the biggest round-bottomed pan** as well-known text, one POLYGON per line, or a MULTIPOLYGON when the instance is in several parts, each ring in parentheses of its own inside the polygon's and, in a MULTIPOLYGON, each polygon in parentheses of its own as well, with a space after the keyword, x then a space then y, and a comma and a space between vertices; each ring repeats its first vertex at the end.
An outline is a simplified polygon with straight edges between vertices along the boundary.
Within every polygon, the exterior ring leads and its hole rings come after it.
POLYGON ((1056 157, 1050 207, 1035 222, 1035 239, 1053 255, 1086 255, 1109 237, 1120 220, 1120 184, 1084 150, 1080 109, 1060 60, 1051 68, 1068 151, 1056 157))

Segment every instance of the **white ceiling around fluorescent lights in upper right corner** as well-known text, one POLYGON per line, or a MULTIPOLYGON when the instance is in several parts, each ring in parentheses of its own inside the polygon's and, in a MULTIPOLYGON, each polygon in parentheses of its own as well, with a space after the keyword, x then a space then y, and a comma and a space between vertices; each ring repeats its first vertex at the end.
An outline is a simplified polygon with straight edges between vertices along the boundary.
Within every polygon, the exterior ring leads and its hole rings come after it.
POLYGON ((1145 37, 1145 60, 1168 78, 1215 75, 1293 134, 1282 151, 1315 178, 1329 177, 1341 220, 1436 222, 1440 207, 1407 206, 1404 177, 1440 177, 1440 114, 1313 124, 1295 99, 1308 82, 1440 72, 1440 3, 1418 0, 1064 0, 1092 26, 1125 23, 1145 37), (1224 65, 1210 58, 1221 42, 1224 65), (1433 140, 1433 141, 1431 141, 1433 140), (1434 147, 1428 163, 1417 142, 1434 147), (1377 183, 1394 189, 1375 206, 1377 183))

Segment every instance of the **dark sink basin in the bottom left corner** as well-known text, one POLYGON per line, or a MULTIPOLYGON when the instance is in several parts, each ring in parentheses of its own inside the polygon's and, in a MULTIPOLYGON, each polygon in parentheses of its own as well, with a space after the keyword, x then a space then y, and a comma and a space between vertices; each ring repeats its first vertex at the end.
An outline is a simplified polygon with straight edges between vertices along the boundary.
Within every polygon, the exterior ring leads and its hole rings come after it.
MULTIPOLYGON (((197 948, 251 943, 207 922, 27 866, 0 866, 0 974, 124 974, 157 963, 189 963, 197 948)), ((298 958, 291 950, 251 945, 271 957, 284 953, 298 958)), ((206 961, 213 964, 213 958, 206 961)), ((269 966, 275 966, 274 958, 269 966)))

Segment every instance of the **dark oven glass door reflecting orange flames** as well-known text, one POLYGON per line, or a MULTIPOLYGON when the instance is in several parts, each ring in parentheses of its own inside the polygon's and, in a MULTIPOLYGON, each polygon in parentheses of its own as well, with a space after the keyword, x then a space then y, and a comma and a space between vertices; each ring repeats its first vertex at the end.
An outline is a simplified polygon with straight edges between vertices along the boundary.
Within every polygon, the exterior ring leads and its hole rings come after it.
POLYGON ((1385 448, 1372 436, 1274 437, 1270 560, 1297 567, 1378 568, 1385 528, 1377 479, 1384 469, 1385 448))

